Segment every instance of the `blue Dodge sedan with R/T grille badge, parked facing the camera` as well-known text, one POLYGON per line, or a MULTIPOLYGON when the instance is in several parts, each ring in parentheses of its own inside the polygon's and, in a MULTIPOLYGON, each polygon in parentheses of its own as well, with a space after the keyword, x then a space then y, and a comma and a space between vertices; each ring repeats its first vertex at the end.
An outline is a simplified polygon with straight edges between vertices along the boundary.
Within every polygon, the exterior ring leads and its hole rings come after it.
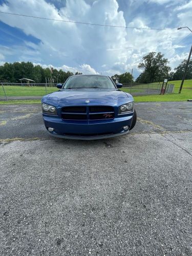
POLYGON ((134 99, 109 76, 74 75, 60 90, 45 95, 42 117, 50 135, 68 139, 102 139, 125 135, 136 124, 134 99))

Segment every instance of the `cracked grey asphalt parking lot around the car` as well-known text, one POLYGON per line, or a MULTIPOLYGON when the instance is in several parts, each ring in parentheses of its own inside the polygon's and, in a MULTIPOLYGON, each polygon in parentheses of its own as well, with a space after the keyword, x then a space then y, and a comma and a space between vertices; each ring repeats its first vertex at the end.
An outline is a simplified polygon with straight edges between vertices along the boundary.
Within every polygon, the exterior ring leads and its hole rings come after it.
POLYGON ((1 255, 191 255, 192 102, 141 102, 126 136, 49 136, 0 105, 1 255))

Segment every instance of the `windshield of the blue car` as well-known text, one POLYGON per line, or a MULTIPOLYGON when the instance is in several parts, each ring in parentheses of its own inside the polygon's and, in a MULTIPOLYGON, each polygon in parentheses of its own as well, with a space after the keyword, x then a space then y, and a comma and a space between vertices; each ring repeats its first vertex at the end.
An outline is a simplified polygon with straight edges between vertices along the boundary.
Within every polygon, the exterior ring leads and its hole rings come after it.
POLYGON ((62 89, 116 89, 107 76, 71 76, 62 89))

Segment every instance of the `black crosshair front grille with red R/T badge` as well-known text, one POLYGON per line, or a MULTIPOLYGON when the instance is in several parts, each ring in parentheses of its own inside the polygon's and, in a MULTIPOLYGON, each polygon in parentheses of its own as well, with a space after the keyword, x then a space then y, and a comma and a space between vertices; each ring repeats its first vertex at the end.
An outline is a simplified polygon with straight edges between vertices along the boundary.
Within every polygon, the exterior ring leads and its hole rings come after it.
POLYGON ((61 110, 63 120, 114 119, 112 106, 65 106, 61 110))

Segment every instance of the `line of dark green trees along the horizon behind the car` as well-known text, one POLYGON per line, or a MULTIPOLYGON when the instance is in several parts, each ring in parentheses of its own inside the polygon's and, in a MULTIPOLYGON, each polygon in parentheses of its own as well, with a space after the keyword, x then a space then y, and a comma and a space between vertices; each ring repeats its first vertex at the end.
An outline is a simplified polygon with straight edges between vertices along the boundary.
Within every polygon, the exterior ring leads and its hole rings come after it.
MULTIPOLYGON (((142 73, 134 80, 134 77, 130 72, 123 74, 115 74, 111 78, 120 83, 151 83, 161 82, 165 78, 169 81, 181 80, 186 66, 186 59, 184 59, 178 67, 171 71, 168 66, 168 59, 164 58, 164 54, 161 52, 150 52, 142 58, 142 62, 139 63, 138 69, 142 70, 142 73)), ((76 72, 75 75, 81 74, 76 72)), ((3 66, 0 66, 0 81, 20 82, 21 78, 28 78, 34 80, 36 83, 48 82, 60 82, 63 83, 71 75, 74 75, 70 71, 58 71, 53 68, 42 68, 37 65, 34 66, 32 62, 6 62, 3 66)), ((189 61, 187 73, 185 79, 192 79, 192 60, 189 61)))

